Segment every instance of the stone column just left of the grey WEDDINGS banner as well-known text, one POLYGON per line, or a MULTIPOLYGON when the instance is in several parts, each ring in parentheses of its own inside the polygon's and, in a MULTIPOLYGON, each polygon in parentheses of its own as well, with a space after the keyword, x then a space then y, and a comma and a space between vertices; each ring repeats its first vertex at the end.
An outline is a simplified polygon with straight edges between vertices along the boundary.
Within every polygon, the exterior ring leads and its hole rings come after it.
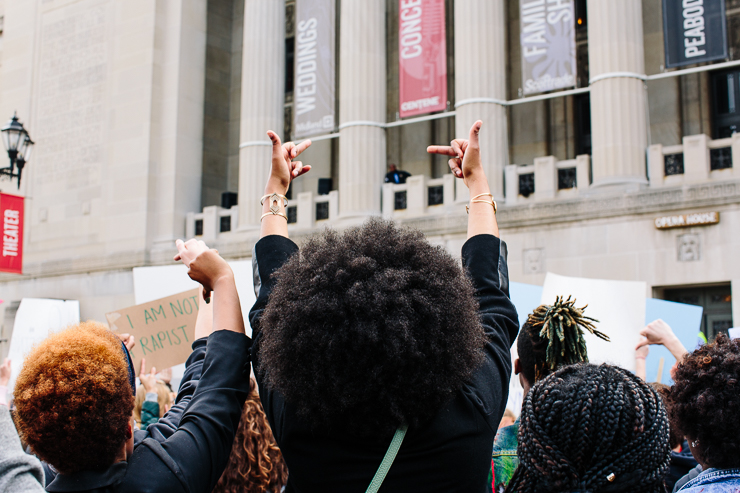
POLYGON ((259 227, 272 151, 267 131, 283 138, 285 2, 245 3, 242 60, 239 229, 259 227))

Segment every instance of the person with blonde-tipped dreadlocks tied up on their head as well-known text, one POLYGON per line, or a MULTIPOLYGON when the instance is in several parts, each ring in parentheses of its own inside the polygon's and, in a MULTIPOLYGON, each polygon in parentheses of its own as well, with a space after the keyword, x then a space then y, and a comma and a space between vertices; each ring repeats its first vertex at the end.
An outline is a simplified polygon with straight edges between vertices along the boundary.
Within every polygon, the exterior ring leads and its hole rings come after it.
MULTIPOLYGON (((583 314, 586 307, 577 308, 575 304, 575 299, 568 297, 564 300, 558 296, 553 305, 540 305, 527 317, 517 338, 519 357, 514 361, 514 372, 519 375, 525 396, 536 382, 559 368, 588 361, 584 330, 605 341, 609 340, 608 336, 596 330, 594 322, 598 320, 583 314)), ((513 425, 501 428, 496 433, 489 491, 504 491, 519 465, 518 434, 518 419, 513 425)))

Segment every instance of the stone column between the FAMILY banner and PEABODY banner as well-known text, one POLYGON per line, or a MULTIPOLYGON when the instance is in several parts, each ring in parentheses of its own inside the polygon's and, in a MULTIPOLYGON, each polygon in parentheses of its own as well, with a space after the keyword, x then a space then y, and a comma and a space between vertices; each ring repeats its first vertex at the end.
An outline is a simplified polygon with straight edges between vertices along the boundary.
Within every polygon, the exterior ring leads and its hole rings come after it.
POLYGON ((588 0, 593 185, 647 185, 642 0, 588 0))

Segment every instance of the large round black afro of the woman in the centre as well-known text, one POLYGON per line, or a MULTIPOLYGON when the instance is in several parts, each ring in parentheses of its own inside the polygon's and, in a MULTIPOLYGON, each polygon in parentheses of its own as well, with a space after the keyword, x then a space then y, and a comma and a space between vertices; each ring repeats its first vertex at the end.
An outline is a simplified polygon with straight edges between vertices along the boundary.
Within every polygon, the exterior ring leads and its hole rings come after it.
POLYGON ((434 416, 482 362, 473 286, 418 231, 327 230, 274 276, 261 371, 314 427, 384 439, 434 416))

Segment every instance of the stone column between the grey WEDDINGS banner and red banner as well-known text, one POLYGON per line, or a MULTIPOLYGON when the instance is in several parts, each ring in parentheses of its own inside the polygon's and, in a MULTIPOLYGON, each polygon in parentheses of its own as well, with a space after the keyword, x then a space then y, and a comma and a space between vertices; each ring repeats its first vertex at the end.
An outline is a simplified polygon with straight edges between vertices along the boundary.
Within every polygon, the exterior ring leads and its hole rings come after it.
POLYGON ((385 0, 342 0, 339 214, 380 214, 385 155, 385 0))

